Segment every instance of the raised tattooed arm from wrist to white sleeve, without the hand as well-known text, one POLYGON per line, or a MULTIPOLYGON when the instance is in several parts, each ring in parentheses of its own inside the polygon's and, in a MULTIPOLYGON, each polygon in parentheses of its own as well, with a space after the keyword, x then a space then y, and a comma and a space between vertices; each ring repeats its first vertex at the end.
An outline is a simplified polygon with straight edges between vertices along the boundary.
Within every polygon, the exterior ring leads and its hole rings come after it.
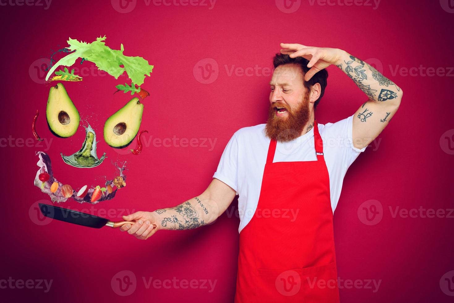
POLYGON ((353 117, 353 146, 362 149, 388 125, 399 109, 403 91, 367 62, 343 50, 335 65, 369 97, 353 117))

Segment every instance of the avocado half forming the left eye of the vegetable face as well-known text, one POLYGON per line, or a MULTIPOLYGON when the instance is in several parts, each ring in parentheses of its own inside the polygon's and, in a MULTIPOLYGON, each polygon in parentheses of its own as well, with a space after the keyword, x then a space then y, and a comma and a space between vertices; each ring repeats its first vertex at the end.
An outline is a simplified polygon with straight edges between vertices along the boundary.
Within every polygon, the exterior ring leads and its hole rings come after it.
POLYGON ((50 88, 46 118, 50 131, 59 138, 71 137, 79 127, 79 111, 61 83, 50 88))

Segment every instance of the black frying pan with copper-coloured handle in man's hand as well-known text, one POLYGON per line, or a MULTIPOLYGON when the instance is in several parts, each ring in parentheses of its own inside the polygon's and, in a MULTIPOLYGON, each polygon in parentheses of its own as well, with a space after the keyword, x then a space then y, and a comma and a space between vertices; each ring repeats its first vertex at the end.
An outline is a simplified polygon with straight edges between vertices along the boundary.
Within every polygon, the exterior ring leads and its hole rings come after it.
MULTIPOLYGON (((39 203, 39 209, 41 210, 41 213, 46 217, 92 228, 101 228, 103 226, 117 228, 124 224, 135 223, 135 221, 112 222, 109 221, 109 219, 94 216, 92 214, 85 214, 72 209, 64 209, 62 207, 49 204, 39 203)), ((153 224, 153 227, 156 228, 156 224, 153 224)))

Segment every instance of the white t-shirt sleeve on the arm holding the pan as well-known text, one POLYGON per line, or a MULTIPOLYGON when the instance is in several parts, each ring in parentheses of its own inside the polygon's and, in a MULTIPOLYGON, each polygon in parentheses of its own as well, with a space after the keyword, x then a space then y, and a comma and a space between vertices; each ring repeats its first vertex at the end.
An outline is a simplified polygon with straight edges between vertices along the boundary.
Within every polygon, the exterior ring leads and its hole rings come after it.
POLYGON ((222 152, 221 160, 217 165, 217 170, 213 175, 216 178, 238 194, 238 141, 235 134, 228 141, 224 151, 222 152))

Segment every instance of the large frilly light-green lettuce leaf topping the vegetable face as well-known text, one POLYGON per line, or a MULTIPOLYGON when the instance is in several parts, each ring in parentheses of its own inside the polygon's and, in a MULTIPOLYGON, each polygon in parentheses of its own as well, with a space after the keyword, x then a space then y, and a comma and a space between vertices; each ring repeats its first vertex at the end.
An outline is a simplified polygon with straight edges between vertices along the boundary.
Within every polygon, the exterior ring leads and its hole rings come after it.
POLYGON ((123 55, 123 44, 121 44, 120 50, 110 49, 105 45, 104 40, 106 40, 106 36, 96 38, 92 43, 79 42, 69 38, 67 49, 71 53, 61 58, 49 69, 46 80, 60 65, 71 66, 78 58, 84 58, 84 60, 93 62, 99 70, 104 70, 114 76, 115 79, 126 71, 131 82, 142 85, 145 76, 149 76, 153 71, 153 65, 149 65, 148 61, 142 57, 123 55))

